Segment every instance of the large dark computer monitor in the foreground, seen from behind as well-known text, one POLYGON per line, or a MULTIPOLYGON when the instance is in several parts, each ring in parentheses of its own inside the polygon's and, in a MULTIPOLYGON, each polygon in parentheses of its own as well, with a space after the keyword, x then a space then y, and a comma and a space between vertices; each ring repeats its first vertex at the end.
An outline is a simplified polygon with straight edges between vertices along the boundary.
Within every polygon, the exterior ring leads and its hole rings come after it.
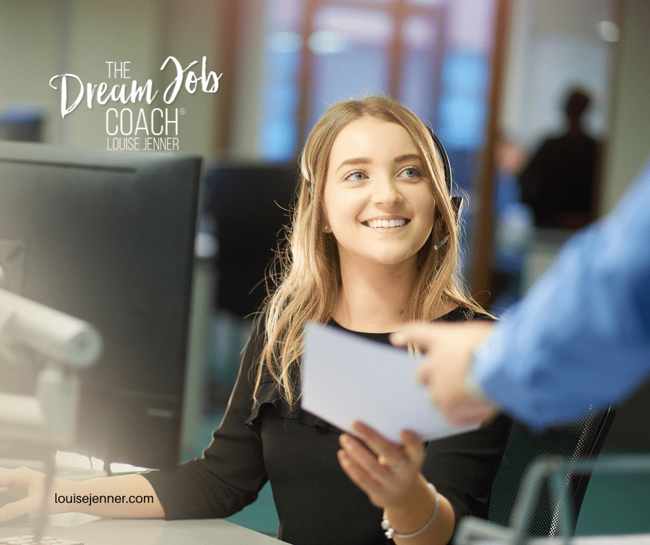
POLYGON ((77 452, 178 463, 200 170, 198 157, 0 142, 0 287, 104 338, 82 372, 77 452))

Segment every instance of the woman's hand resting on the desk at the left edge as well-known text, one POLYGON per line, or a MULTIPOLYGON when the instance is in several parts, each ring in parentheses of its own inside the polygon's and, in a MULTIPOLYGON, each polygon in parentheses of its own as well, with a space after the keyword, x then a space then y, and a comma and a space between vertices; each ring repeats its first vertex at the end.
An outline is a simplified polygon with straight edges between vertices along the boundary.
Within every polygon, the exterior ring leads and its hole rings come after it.
POLYGON ((0 507, 0 521, 15 519, 39 510, 45 493, 45 475, 29 468, 0 468, 0 492, 3 489, 17 501, 0 507))

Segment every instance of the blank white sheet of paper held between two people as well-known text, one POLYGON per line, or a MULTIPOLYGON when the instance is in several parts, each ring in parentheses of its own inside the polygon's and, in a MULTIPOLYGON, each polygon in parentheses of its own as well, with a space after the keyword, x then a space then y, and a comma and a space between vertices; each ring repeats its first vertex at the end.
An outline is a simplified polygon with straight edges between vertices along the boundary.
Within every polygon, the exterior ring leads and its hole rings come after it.
POLYGON ((395 443, 402 429, 425 441, 476 429, 456 427, 429 402, 416 370, 422 358, 310 322, 302 361, 302 408, 351 432, 360 420, 395 443))

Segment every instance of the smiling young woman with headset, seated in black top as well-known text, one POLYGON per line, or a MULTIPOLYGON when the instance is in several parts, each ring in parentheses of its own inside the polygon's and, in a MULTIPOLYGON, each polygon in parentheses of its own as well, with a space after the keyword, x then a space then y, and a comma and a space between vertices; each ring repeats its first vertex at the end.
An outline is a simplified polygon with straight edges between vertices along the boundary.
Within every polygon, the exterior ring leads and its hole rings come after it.
MULTIPOLYGON (((356 438, 342 433, 300 407, 306 320, 388 342, 414 320, 487 318, 456 277, 458 225, 427 128, 387 98, 340 102, 310 134, 301 178, 277 289, 203 458, 174 472, 57 480, 57 494, 154 497, 84 506, 110 517, 227 517, 270 480, 278 537, 295 545, 384 544, 389 527, 396 543, 442 545, 460 517, 487 515, 507 418, 427 445, 405 431, 396 444, 362 423, 356 438)), ((38 474, 6 472, 3 483, 30 490, 7 516, 37 508, 38 474)))

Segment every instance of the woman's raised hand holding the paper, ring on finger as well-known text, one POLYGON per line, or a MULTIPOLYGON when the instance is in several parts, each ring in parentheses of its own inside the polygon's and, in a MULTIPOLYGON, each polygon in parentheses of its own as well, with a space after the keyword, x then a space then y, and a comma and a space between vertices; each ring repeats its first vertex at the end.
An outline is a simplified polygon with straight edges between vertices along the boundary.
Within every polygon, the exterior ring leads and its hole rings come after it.
POLYGON ((342 434, 342 449, 337 456, 344 472, 366 492, 374 506, 400 506, 424 481, 418 479, 425 456, 423 442, 414 432, 404 431, 403 444, 393 443, 360 422, 352 429, 368 448, 350 434, 342 434))

